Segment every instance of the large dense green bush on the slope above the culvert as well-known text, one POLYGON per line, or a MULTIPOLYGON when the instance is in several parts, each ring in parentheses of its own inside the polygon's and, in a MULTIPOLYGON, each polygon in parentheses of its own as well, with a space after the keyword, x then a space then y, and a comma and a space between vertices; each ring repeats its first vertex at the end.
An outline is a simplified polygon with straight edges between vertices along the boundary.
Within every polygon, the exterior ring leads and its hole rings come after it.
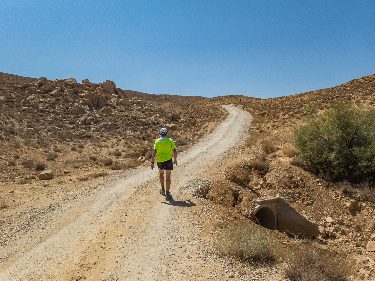
POLYGON ((375 111, 348 100, 317 116, 308 107, 305 126, 293 130, 293 145, 312 172, 333 181, 375 182, 375 111))

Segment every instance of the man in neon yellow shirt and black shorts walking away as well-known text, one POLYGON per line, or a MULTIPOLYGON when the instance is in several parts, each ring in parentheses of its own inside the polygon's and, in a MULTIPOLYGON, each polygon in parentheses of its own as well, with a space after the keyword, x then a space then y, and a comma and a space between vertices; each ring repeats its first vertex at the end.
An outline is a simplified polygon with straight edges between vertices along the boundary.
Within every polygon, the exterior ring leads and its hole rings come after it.
POLYGON ((164 170, 166 178, 166 196, 165 200, 172 198, 172 195, 169 194, 169 188, 171 187, 171 172, 173 170, 173 165, 177 165, 177 151, 176 145, 171 138, 168 138, 166 134, 168 133, 167 129, 162 128, 160 130, 161 137, 156 139, 154 144, 154 151, 152 152, 151 157, 151 170, 154 169, 154 158, 157 153, 157 167, 159 168, 159 179, 162 188, 159 190, 160 194, 165 194, 164 189, 164 170), (172 151, 174 155, 174 161, 172 162, 172 151))

